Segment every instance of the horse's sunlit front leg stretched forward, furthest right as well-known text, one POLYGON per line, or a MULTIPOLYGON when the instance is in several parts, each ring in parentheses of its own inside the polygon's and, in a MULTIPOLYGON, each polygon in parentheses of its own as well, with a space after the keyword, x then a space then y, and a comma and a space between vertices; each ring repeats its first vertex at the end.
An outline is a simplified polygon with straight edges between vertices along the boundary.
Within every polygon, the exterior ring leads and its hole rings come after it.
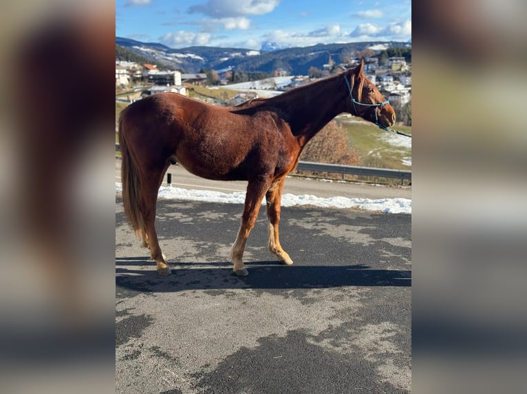
POLYGON ((278 257, 281 264, 293 264, 291 257, 283 250, 279 239, 280 223, 280 201, 282 197, 283 183, 286 178, 277 179, 272 183, 266 193, 267 200, 267 218, 269 220, 269 251, 278 257))

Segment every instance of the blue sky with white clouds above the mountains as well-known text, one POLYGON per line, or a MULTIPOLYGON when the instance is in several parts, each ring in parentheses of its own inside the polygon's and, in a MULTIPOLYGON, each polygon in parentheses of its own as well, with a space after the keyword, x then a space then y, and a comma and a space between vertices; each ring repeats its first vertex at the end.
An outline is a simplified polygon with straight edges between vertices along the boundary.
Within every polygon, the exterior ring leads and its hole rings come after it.
POLYGON ((411 40, 411 0, 116 0, 116 36, 172 48, 411 40))

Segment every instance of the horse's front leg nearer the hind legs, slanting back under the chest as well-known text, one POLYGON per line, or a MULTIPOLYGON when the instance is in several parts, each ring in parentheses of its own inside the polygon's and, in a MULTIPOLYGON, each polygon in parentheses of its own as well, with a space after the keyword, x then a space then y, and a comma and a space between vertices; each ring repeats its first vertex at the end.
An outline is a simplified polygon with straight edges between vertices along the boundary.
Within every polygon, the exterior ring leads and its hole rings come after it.
POLYGON ((247 185, 244 214, 241 216, 241 226, 239 227, 238 236, 233 244, 233 248, 230 251, 230 256, 234 264, 234 273, 239 277, 245 277, 249 274, 243 262, 245 244, 250 231, 255 227, 261 200, 264 198, 264 194, 266 194, 269 185, 270 180, 268 178, 249 180, 247 185))

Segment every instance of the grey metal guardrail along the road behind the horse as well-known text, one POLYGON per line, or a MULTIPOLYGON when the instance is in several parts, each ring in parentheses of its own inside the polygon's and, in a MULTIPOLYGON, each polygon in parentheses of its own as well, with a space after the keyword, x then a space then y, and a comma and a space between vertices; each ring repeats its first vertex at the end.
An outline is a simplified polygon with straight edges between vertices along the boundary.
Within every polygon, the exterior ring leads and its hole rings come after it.
MULTIPOLYGON (((116 152, 118 151, 119 144, 116 143, 116 152)), ((399 178, 411 181, 411 171, 408 170, 389 170, 387 168, 358 167, 356 165, 313 163, 312 161, 299 161, 297 170, 334 172, 337 174, 362 176, 381 176, 383 178, 399 178)))

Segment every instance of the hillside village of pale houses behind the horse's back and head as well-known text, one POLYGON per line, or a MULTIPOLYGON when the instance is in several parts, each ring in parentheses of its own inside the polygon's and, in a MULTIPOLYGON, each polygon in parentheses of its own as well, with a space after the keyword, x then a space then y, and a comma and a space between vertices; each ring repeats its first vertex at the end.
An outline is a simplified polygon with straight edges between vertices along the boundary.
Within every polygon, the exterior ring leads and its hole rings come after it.
MULTIPOLYGON (((147 95, 164 92, 189 96, 191 86, 199 85, 212 89, 222 86, 237 91, 228 100, 204 99, 211 104, 234 106, 257 97, 279 95, 297 86, 341 73, 359 62, 360 59, 353 58, 345 64, 336 65, 330 56, 322 70, 312 67, 307 76, 289 76, 286 70, 276 69, 270 78, 233 83, 233 73, 236 71, 232 67, 213 70, 210 78, 204 72, 182 73, 177 70, 161 70, 153 64, 116 60, 116 101, 134 102, 147 95), (211 80, 215 84, 211 84, 211 80)), ((364 72, 394 108, 400 109, 411 102, 411 64, 404 57, 389 57, 380 64, 378 57, 369 56, 365 58, 364 72)))

